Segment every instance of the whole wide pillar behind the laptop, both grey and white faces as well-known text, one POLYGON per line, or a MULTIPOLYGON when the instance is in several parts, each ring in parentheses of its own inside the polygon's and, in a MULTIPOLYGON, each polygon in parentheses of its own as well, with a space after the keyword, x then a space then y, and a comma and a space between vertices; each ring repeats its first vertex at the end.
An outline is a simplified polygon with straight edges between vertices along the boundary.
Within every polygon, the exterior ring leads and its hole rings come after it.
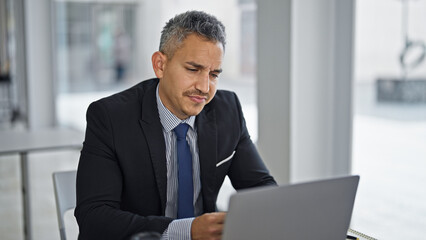
POLYGON ((279 183, 350 172, 353 11, 258 2, 258 145, 279 183))

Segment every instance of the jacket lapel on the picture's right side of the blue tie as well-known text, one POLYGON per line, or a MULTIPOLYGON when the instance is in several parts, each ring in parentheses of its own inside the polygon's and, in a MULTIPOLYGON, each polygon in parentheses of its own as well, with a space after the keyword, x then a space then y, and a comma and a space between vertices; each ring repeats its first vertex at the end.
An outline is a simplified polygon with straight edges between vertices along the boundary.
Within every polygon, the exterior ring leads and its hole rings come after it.
POLYGON ((213 184, 217 160, 217 124, 216 112, 209 106, 205 106, 197 116, 197 135, 204 209, 211 212, 216 208, 213 184))

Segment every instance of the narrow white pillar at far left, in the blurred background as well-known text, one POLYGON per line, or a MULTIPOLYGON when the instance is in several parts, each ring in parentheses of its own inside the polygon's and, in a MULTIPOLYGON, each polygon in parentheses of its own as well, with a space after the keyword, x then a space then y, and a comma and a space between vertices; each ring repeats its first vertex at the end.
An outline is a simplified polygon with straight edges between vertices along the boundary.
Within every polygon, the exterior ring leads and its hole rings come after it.
POLYGON ((24 3, 29 128, 55 124, 50 7, 50 0, 24 3))

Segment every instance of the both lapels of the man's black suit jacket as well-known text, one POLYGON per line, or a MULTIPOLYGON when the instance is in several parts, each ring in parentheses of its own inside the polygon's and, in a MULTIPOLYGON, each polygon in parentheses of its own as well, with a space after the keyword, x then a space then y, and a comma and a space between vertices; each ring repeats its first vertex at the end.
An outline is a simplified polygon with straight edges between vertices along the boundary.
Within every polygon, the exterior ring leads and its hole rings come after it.
MULTIPOLYGON (((157 109, 156 86, 157 84, 153 84, 143 95, 142 118, 139 122, 148 143, 161 209, 164 214, 167 202, 167 160, 163 129, 157 109)), ((204 209, 206 212, 212 212, 216 209, 213 184, 215 183, 214 172, 217 160, 217 124, 214 109, 205 106, 197 116, 196 126, 204 209)))

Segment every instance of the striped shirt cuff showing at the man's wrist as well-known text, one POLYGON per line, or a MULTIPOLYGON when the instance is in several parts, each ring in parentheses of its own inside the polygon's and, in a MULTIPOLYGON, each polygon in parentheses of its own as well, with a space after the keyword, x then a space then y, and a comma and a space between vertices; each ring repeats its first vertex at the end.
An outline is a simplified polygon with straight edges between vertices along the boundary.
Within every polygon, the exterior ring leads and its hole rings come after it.
POLYGON ((162 240, 191 240, 191 225, 194 218, 173 220, 161 236, 162 240))

